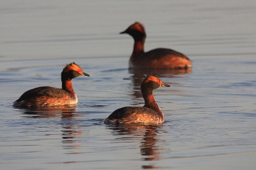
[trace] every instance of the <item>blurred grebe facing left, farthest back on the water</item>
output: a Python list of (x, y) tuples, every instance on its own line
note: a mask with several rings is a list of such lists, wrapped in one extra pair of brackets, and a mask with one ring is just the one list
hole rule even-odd
[(190, 68), (187, 56), (172, 49), (154, 49), (144, 52), (145, 29), (140, 22), (135, 22), (120, 34), (129, 34), (134, 39), (134, 47), (129, 60), (129, 68)]

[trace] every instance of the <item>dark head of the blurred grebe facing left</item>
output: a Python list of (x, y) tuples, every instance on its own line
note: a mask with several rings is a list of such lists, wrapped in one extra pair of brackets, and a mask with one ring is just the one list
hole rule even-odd
[(131, 35), (135, 41), (146, 38), (144, 26), (142, 24), (140, 24), (140, 22), (135, 22), (134, 24), (129, 26), (125, 31), (121, 32), (120, 34), (125, 34), (125, 33)]

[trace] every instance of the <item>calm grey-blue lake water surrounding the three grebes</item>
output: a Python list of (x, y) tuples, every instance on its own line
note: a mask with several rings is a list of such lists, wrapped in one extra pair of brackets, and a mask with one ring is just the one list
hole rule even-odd
[[(255, 169), (256, 1), (1, 1), (1, 169)], [(145, 25), (145, 50), (166, 47), (193, 61), (156, 71), (165, 122), (113, 127), (111, 112), (143, 105), (147, 72), (128, 70)], [(75, 61), (76, 107), (14, 109), (31, 88), (61, 88)]]

